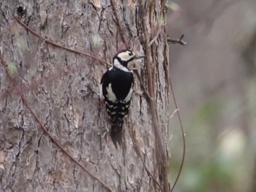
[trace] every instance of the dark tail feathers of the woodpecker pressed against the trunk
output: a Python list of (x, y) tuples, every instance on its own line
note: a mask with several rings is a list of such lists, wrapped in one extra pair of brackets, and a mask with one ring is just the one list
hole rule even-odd
[(121, 146), (122, 144), (122, 126), (123, 126), (124, 121), (123, 120), (115, 120), (115, 122), (111, 122), (111, 132), (110, 132), (110, 136), (111, 139), (113, 141), (113, 144), (115, 145), (116, 149), (117, 149), (117, 143), (118, 145)]

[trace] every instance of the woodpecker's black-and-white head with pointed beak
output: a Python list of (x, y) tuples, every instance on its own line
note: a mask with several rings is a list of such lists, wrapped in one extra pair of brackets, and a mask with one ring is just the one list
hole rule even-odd
[(115, 66), (118, 69), (126, 71), (129, 63), (136, 59), (145, 57), (146, 56), (144, 55), (136, 55), (131, 50), (122, 50), (113, 57), (113, 66)]

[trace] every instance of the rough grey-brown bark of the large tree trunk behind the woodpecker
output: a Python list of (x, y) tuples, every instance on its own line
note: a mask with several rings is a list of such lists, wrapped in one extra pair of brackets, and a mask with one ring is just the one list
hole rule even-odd
[[(0, 191), (107, 191), (42, 131), (19, 90), (50, 134), (113, 191), (159, 191), (146, 169), (167, 191), (161, 147), (167, 138), (168, 50), (159, 24), (165, 1), (4, 0), (0, 12), (1, 56), (14, 77), (12, 82), (0, 65)], [(87, 87), (98, 91), (107, 66), (49, 45), (12, 13), (42, 37), (105, 61), (126, 46), (147, 55), (137, 64), (141, 81), (135, 75), (124, 146), (114, 147), (105, 108)]]

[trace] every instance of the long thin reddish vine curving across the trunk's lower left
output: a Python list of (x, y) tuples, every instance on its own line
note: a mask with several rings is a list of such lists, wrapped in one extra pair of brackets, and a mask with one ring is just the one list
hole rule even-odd
[[(10, 74), (9, 69), (7, 68), (7, 64), (4, 61), (4, 59), (2, 58), (2, 55), (0, 53), (0, 61), (1, 64), (4, 66), (4, 70), (7, 73), (7, 76), (10, 78), (11, 82), (13, 83), (13, 85), (16, 85), (15, 83), (15, 79), (12, 76), (12, 74)], [(34, 117), (34, 119), (37, 121), (37, 123), (39, 123), (40, 128), (42, 128), (42, 131), (45, 132), (45, 134), (48, 135), (48, 137), (50, 137), (50, 139), (53, 140), (53, 142), (63, 151), (63, 153), (65, 153), (73, 162), (75, 162), (75, 164), (77, 164), (78, 166), (80, 166), (81, 169), (83, 169), (84, 172), (86, 172), (87, 174), (89, 174), (89, 176), (91, 178), (93, 178), (94, 180), (97, 180), (104, 188), (106, 188), (108, 191), (113, 191), (108, 185), (106, 185), (105, 183), (102, 182), (102, 180), (99, 180), (98, 177), (96, 177), (94, 174), (91, 174), (91, 172), (89, 172), (88, 169), (86, 169), (86, 167), (84, 167), (82, 164), (80, 164), (80, 162), (78, 162), (70, 153), (67, 152), (67, 150), (64, 149), (64, 147), (60, 144), (60, 142), (55, 139), (54, 137), (52, 137), (50, 135), (50, 133), (48, 132), (48, 130), (45, 128), (45, 126), (43, 126), (42, 122), (39, 120), (39, 118), (37, 118), (37, 115), (35, 114), (35, 112), (31, 109), (29, 102), (26, 100), (25, 96), (23, 96), (23, 93), (20, 89), (19, 85), (16, 85), (16, 89), (18, 91), (18, 94), (20, 95), (21, 99), (23, 100), (24, 104), (26, 105), (26, 107), (28, 108), (29, 112), (31, 112), (31, 115)]]

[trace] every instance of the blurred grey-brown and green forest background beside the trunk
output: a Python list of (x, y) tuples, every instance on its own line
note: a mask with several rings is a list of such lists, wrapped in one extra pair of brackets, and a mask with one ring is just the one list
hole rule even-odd
[[(187, 153), (175, 191), (256, 191), (256, 1), (169, 1), (170, 72)], [(174, 109), (173, 109), (174, 110)], [(170, 125), (170, 178), (181, 164)]]

